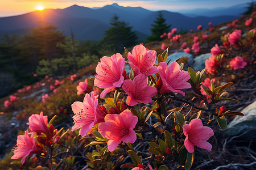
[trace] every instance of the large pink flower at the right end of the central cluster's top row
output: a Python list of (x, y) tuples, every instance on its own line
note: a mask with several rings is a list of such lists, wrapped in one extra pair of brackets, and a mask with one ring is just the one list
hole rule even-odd
[(162, 79), (162, 86), (160, 87), (162, 94), (165, 92), (178, 92), (184, 96), (185, 92), (177, 89), (191, 88), (191, 85), (187, 83), (187, 80), (190, 79), (189, 73), (181, 71), (177, 62), (171, 62), (168, 66), (165, 62), (160, 62), (158, 71)]

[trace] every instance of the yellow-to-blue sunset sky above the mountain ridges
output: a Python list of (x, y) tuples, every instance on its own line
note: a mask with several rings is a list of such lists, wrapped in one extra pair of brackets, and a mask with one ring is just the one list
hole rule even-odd
[(148, 10), (179, 11), (181, 9), (229, 7), (252, 0), (0, 0), (0, 17), (25, 14), (35, 11), (36, 6), (44, 8), (66, 8), (72, 5), (102, 7), (118, 3), (120, 6), (141, 6)]

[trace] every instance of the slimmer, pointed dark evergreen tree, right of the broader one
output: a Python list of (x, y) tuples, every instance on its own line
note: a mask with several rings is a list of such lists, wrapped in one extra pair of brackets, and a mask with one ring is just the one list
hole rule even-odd
[(156, 17), (156, 20), (154, 20), (155, 24), (151, 24), (152, 28), (151, 30), (151, 36), (148, 36), (146, 39), (148, 42), (150, 41), (160, 41), (161, 38), (160, 36), (166, 32), (170, 32), (170, 25), (167, 25), (166, 23), (166, 19), (163, 18), (163, 14), (161, 11), (159, 11), (158, 16)]

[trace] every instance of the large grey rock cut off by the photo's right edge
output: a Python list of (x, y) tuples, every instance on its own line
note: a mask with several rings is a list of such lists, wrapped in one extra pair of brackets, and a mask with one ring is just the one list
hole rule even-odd
[(244, 133), (245, 131), (256, 130), (256, 100), (248, 105), (241, 111), (245, 116), (237, 116), (232, 120), (228, 128), (226, 129), (226, 134), (230, 136), (238, 135)]

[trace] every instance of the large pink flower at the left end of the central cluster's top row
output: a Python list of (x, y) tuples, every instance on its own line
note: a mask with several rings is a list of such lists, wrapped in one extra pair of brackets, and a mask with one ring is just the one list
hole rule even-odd
[(104, 56), (101, 58), (101, 62), (98, 62), (94, 86), (106, 88), (102, 91), (101, 97), (105, 97), (106, 93), (113, 87), (121, 87), (125, 79), (122, 76), (124, 66), (125, 59), (119, 53), (111, 57)]

